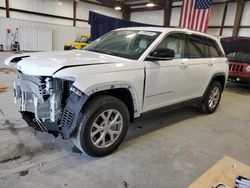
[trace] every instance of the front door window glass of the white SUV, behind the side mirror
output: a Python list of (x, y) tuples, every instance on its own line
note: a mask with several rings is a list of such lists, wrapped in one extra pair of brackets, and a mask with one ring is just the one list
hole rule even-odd
[(168, 35), (161, 43), (156, 47), (156, 49), (165, 48), (171, 49), (175, 52), (175, 58), (186, 57), (186, 41), (184, 39), (184, 34), (175, 33)]

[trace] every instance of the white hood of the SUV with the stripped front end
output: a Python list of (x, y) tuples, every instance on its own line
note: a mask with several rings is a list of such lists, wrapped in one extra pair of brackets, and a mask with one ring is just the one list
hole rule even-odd
[(5, 64), (17, 68), (24, 74), (52, 76), (59, 69), (65, 67), (121, 63), (125, 61), (128, 60), (86, 50), (72, 50), (13, 55), (5, 60)]

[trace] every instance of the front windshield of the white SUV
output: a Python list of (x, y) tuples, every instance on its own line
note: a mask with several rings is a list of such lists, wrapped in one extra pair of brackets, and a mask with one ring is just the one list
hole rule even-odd
[(85, 47), (84, 50), (139, 59), (159, 35), (160, 32), (154, 31), (112, 31)]

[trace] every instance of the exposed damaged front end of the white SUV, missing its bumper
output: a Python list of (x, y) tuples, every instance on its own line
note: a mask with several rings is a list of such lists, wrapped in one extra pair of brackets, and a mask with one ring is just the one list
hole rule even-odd
[(18, 77), (14, 96), (27, 124), (54, 136), (70, 138), (87, 96), (74, 88), (72, 80), (21, 72)]

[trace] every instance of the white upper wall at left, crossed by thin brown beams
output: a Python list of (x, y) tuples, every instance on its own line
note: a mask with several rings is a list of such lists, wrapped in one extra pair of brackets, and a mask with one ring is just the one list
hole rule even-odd
[[(0, 1), (3, 4), (3, 0)], [(5, 6), (1, 5), (0, 6)], [(58, 15), (73, 18), (73, 1), (72, 0), (11, 0), (10, 7), (15, 9), (27, 10), (38, 13)], [(122, 18), (121, 11), (113, 8), (94, 5), (90, 3), (77, 2), (77, 18), (88, 20), (89, 11), (94, 11), (115, 18)], [(5, 11), (0, 10), (0, 17), (5, 17)], [(58, 19), (46, 16), (38, 16), (20, 12), (10, 12), (10, 17), (20, 20), (37, 21), (51, 24), (60, 24), (73, 26), (73, 20)], [(90, 27), (87, 22), (77, 21), (77, 27)]]

